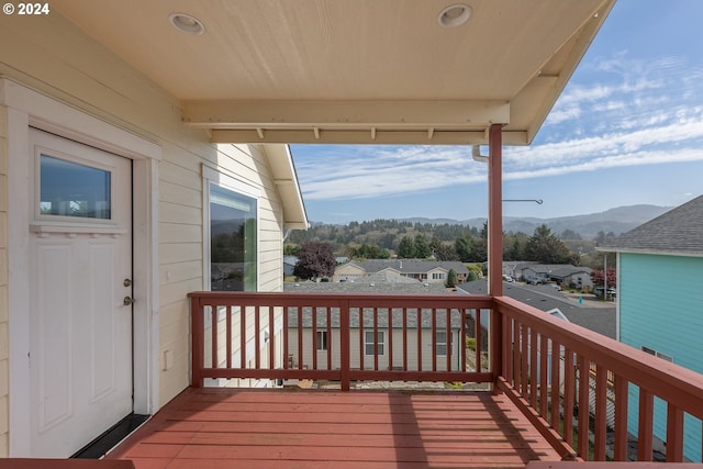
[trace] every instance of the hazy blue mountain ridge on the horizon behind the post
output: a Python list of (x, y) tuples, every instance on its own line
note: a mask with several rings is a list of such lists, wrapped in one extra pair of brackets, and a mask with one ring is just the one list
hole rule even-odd
[[(615, 235), (628, 232), (649, 220), (652, 220), (665, 212), (671, 210), (671, 206), (659, 205), (627, 205), (610, 209), (604, 212), (591, 213), (585, 215), (572, 215), (560, 216), (554, 219), (537, 219), (537, 217), (516, 217), (505, 216), (503, 219), (503, 230), (513, 233), (525, 233), (532, 235), (535, 228), (539, 225), (547, 225), (553, 233), (560, 234), (565, 230), (571, 230), (579, 233), (583, 239), (594, 238), (599, 232), (610, 233)], [(470, 219), (464, 221), (449, 220), (449, 219), (403, 219), (403, 221), (411, 223), (429, 223), (436, 225), (444, 224), (460, 224), (475, 226), (482, 228), (486, 219)]]

